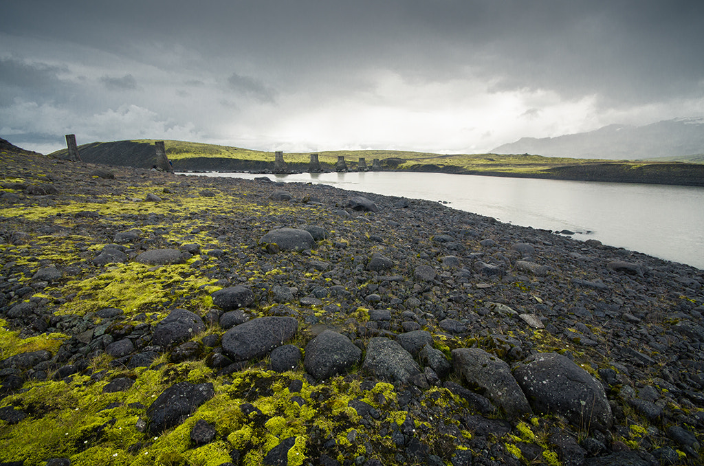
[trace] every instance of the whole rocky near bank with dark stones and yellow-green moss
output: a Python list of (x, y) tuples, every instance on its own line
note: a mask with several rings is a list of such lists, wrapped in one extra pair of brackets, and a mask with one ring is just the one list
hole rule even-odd
[(12, 147), (0, 188), (0, 465), (702, 461), (702, 270)]

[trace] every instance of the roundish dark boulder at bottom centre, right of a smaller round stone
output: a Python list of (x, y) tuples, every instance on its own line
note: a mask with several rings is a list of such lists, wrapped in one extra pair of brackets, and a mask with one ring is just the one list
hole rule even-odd
[(308, 342), (303, 367), (315, 379), (322, 380), (345, 372), (358, 364), (362, 350), (346, 336), (325, 330)]

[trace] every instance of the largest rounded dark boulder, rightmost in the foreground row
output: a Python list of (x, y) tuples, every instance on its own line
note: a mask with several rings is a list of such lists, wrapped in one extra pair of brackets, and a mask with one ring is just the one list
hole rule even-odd
[(611, 407), (603, 386), (570, 358), (539, 353), (515, 366), (513, 375), (536, 413), (556, 413), (579, 429), (608, 430)]

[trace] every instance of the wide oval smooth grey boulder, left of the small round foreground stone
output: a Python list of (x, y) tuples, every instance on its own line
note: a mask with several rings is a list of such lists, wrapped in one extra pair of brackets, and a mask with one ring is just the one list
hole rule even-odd
[(263, 358), (298, 332), (294, 317), (259, 317), (232, 327), (222, 335), (222, 350), (234, 361)]

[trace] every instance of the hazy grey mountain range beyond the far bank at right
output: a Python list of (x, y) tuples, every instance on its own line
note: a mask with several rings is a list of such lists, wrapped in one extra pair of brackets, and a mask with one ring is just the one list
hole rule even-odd
[(704, 118), (675, 118), (652, 125), (608, 125), (598, 130), (558, 137), (523, 137), (491, 153), (531, 153), (546, 157), (702, 163)]

